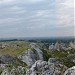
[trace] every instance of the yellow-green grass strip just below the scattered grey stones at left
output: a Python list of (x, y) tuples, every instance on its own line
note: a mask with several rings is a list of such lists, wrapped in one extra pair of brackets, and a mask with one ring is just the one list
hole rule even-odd
[(0, 54), (1, 55), (9, 54), (9, 55), (15, 57), (27, 49), (28, 49), (28, 47), (4, 48), (4, 49), (0, 49)]

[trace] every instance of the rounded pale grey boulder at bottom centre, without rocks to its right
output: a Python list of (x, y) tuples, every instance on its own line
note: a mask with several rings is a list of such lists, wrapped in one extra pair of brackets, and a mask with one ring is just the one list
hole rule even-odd
[(48, 71), (48, 63), (46, 61), (38, 60), (32, 65), (30, 69), (27, 68), (26, 75), (44, 75), (43, 72), (46, 72), (45, 69)]

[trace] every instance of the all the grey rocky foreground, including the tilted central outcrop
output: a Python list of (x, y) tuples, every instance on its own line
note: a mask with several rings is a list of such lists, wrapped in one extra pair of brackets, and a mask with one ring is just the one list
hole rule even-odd
[[(49, 57), (46, 61), (45, 53), (36, 43), (30, 46), (30, 49), (17, 56), (22, 65), (16, 64), (16, 59), (9, 55), (0, 56), (0, 75), (75, 75), (75, 66), (68, 67), (63, 60), (55, 57)], [(72, 58), (71, 62), (75, 63), (74, 56), (71, 54), (64, 59)]]

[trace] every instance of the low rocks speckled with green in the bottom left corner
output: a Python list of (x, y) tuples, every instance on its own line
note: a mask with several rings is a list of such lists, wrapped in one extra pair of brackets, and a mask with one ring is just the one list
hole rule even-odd
[(5, 68), (2, 69), (2, 73), (0, 75), (25, 75), (25, 67), (22, 66), (15, 67), (12, 65), (12, 68), (10, 68), (7, 66), (5, 66)]

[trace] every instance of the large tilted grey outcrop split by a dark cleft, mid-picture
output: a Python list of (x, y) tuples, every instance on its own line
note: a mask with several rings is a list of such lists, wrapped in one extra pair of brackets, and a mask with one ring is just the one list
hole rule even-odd
[(31, 49), (23, 52), (18, 56), (21, 61), (25, 62), (28, 66), (32, 66), (37, 60), (44, 60), (43, 52), (36, 44), (31, 44)]

